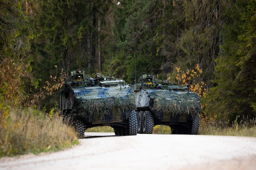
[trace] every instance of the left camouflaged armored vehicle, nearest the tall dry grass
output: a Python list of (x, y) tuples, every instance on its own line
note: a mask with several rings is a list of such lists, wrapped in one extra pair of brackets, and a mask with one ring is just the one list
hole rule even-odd
[(123, 79), (73, 71), (60, 92), (63, 120), (75, 127), (79, 138), (95, 126), (111, 126), (116, 135), (137, 135), (135, 93)]

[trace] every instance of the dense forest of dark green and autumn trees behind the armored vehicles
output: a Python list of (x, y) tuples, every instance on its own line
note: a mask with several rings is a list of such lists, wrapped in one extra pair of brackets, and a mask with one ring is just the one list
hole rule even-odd
[(198, 65), (203, 116), (255, 119), (255, 0), (0, 0), (0, 37), (0, 109), (58, 105), (63, 63), (131, 84)]

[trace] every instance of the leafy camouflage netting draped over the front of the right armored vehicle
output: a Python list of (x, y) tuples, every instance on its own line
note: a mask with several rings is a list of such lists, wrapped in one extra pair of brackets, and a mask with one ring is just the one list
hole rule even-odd
[(149, 96), (154, 99), (154, 109), (164, 114), (172, 114), (172, 116), (183, 114), (193, 117), (201, 113), (200, 98), (195, 93), (154, 92)]

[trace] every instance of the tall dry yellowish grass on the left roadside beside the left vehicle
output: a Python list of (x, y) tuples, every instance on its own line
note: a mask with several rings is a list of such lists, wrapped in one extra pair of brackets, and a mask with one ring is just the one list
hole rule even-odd
[(0, 157), (62, 150), (78, 139), (57, 115), (49, 117), (34, 109), (0, 111)]

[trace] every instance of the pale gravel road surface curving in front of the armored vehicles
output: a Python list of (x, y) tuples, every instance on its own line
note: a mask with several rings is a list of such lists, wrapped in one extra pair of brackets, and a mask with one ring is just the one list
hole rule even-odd
[(256, 170), (256, 138), (85, 133), (71, 149), (0, 159), (0, 170)]

